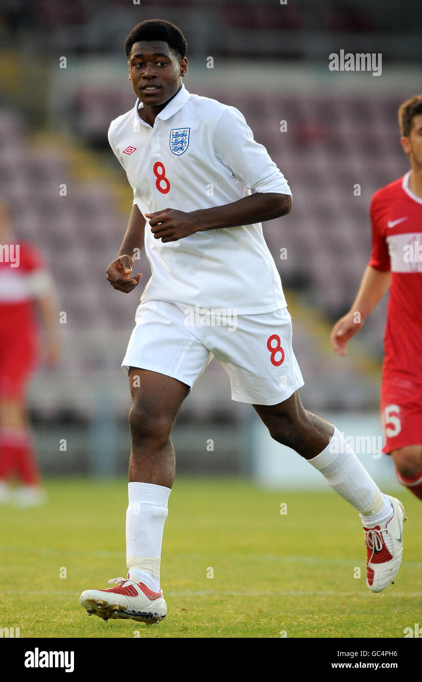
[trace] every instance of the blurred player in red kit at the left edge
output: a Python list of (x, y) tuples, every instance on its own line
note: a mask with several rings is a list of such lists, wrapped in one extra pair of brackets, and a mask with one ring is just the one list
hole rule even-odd
[[(0, 200), (0, 504), (21, 507), (46, 496), (33, 453), (26, 409), (27, 384), (39, 361), (34, 303), (46, 328), (46, 360), (57, 360), (52, 284), (46, 266), (31, 243), (12, 233), (10, 211)], [(18, 488), (10, 482), (16, 477)]]

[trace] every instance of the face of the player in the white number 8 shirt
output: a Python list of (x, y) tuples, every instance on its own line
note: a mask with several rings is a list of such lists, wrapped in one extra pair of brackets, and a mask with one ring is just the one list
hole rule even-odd
[(129, 80), (144, 106), (160, 106), (177, 93), (187, 72), (187, 59), (180, 59), (163, 40), (140, 40), (129, 55)]

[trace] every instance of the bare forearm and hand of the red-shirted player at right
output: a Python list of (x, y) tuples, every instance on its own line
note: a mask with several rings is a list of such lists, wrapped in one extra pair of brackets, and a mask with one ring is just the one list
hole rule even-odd
[(378, 305), (390, 286), (391, 271), (376, 270), (368, 265), (355, 301), (349, 312), (338, 320), (331, 331), (331, 345), (338, 355), (346, 355), (346, 344), (361, 329), (367, 316)]

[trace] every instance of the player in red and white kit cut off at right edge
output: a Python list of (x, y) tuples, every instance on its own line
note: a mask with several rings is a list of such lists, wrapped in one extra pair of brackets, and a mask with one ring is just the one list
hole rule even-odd
[(410, 170), (372, 198), (370, 263), (331, 343), (345, 355), (346, 343), (390, 286), (380, 406), (384, 451), (398, 481), (422, 499), (422, 95), (400, 106), (399, 125)]

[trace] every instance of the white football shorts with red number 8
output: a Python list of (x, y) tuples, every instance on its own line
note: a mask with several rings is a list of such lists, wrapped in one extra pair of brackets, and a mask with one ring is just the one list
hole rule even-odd
[(126, 374), (137, 367), (192, 388), (214, 356), (230, 376), (232, 400), (275, 405), (303, 386), (287, 308), (237, 316), (230, 308), (145, 301), (135, 322), (122, 363)]

